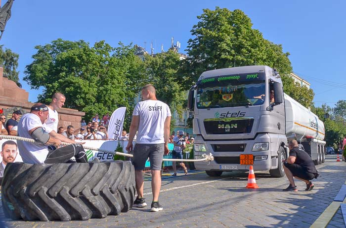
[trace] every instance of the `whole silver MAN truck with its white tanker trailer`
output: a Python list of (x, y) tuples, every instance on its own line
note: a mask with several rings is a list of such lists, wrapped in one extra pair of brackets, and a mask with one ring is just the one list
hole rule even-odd
[[(273, 96), (270, 98), (270, 92)], [(297, 139), (315, 164), (325, 156), (324, 124), (283, 93), (280, 75), (269, 66), (216, 69), (201, 74), (191, 87), (195, 159), (208, 152), (214, 161), (195, 163), (210, 176), (223, 171), (269, 170), (285, 175), (288, 141)]]

